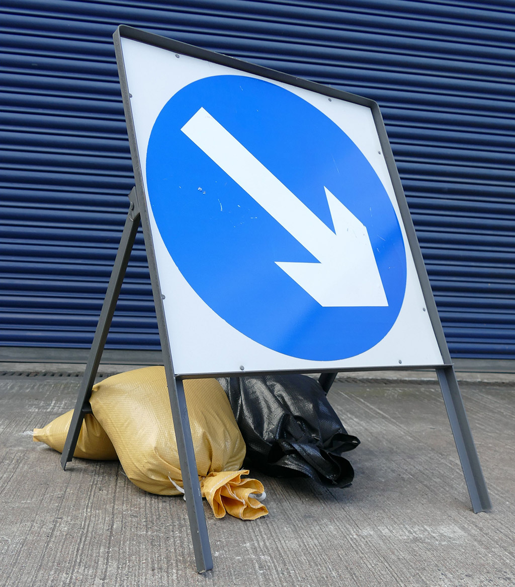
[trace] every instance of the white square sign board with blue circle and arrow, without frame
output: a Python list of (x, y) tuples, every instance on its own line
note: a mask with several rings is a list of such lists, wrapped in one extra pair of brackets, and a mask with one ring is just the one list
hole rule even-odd
[(370, 107), (121, 50), (177, 375), (443, 365)]

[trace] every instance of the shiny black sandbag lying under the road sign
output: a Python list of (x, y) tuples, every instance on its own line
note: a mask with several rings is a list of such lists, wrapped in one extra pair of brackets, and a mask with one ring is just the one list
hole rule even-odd
[(331, 487), (354, 478), (341, 456), (347, 434), (319, 382), (306, 375), (220, 377), (247, 446), (246, 462), (272, 477), (311, 477)]

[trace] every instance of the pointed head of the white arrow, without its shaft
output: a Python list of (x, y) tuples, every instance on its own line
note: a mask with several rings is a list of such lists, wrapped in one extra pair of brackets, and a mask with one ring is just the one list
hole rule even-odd
[[(326, 187), (334, 231), (319, 263), (277, 262), (321, 306), (388, 306), (367, 228)], [(335, 234), (336, 233), (336, 234)]]

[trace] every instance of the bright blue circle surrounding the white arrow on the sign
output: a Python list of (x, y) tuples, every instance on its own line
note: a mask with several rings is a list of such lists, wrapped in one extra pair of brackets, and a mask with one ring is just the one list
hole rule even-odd
[[(344, 204), (367, 230), (387, 305), (321, 305), (277, 265), (317, 259), (181, 130), (199, 109), (330, 230), (324, 187)], [(157, 117), (146, 167), (148, 197), (172, 259), (243, 335), (284, 355), (339, 360), (372, 348), (394, 325), (406, 288), (397, 215), (358, 147), (306, 100), (253, 77), (192, 82)]]

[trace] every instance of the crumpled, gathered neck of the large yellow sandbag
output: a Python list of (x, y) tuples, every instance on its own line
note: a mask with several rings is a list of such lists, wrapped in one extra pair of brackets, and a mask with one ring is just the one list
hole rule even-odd
[(257, 479), (242, 479), (249, 471), (221, 471), (209, 473), (201, 480), (202, 497), (205, 497), (215, 518), (226, 512), (240, 519), (256, 519), (268, 513), (261, 503), (266, 497), (263, 484)]

